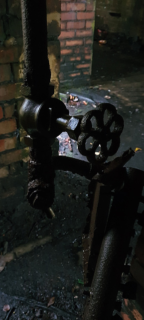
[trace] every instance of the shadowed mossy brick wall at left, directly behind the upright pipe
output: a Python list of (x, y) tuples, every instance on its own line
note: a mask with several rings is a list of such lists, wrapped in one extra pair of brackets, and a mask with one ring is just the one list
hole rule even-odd
[[(60, 0), (47, 0), (48, 56), (55, 96), (59, 90)], [(37, 39), (38, 40), (38, 39)], [(23, 100), (23, 43), (20, 0), (0, 0), (0, 210), (25, 195), (29, 149), (18, 120)]]

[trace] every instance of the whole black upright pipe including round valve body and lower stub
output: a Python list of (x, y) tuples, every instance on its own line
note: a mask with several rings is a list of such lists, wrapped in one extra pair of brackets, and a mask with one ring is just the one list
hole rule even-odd
[[(46, 0), (34, 0), (34, 2), (21, 0), (21, 15), (24, 48), (22, 93), (26, 98), (28, 97), (28, 107), (30, 105), (28, 112), (26, 112), (27, 104), (24, 110), (20, 108), (19, 111), (20, 121), (24, 123), (24, 128), (29, 134), (28, 145), (31, 145), (27, 199), (32, 207), (47, 209), (54, 200), (55, 172), (51, 163), (53, 139), (45, 137), (45, 131), (50, 125), (47, 123), (50, 122), (51, 117), (48, 104), (43, 105), (43, 101), (50, 100), (54, 93), (53, 86), (49, 86), (51, 72), (47, 54)], [(27, 99), (24, 103), (26, 101)], [(42, 112), (40, 123), (37, 120), (39, 112)], [(45, 117), (46, 128), (43, 125)]]

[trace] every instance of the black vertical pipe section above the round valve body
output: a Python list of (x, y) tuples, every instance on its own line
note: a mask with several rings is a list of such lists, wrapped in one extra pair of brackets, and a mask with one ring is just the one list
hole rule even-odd
[(21, 0), (24, 85), (32, 98), (44, 100), (50, 82), (47, 57), (46, 0)]

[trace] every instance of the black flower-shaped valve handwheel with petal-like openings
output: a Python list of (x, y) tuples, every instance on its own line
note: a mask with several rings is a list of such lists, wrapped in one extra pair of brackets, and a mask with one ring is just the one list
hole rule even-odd
[[(104, 121), (106, 111), (107, 120)], [(95, 128), (92, 126), (92, 118), (96, 120)], [(89, 162), (105, 162), (108, 156), (117, 152), (123, 128), (123, 117), (117, 113), (115, 106), (111, 103), (99, 104), (97, 109), (88, 111), (82, 118), (81, 134), (78, 137), (79, 152), (82, 155), (86, 155)], [(92, 137), (93, 142), (86, 149), (86, 141), (90, 137)], [(111, 141), (110, 147), (108, 147), (109, 141)], [(101, 146), (101, 151), (96, 158), (95, 152), (99, 145)]]

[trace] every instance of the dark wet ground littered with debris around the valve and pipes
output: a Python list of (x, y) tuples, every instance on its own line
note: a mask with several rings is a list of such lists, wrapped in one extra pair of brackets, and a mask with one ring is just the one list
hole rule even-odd
[[(125, 121), (117, 155), (138, 148), (129, 166), (144, 169), (144, 64), (139, 52), (96, 44), (91, 86), (61, 92), (74, 115), (101, 102), (113, 103)], [(70, 93), (79, 97), (77, 103), (67, 103)], [(82, 158), (66, 133), (59, 136), (59, 144), (63, 156)], [(0, 251), (12, 257), (0, 273), (0, 320), (81, 319), (85, 302), (81, 238), (89, 213), (88, 184), (84, 177), (57, 171), (53, 219), (32, 209), (26, 199), (12, 212), (1, 212)], [(5, 304), (10, 306), (7, 311)]]

